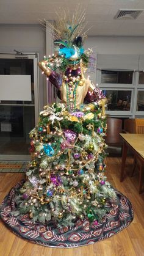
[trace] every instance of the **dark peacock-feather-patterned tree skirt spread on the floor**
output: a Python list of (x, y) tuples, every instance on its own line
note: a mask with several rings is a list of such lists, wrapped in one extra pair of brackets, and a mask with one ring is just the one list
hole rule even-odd
[(33, 223), (28, 214), (10, 216), (10, 211), (15, 210), (15, 191), (23, 186), (23, 182), (17, 183), (5, 197), (0, 206), (0, 217), (13, 233), (33, 243), (49, 247), (86, 246), (117, 234), (132, 222), (134, 215), (131, 202), (117, 190), (117, 198), (107, 204), (112, 210), (97, 225), (91, 225), (86, 220), (76, 221), (72, 228), (57, 229), (52, 221), (45, 225), (40, 222)]

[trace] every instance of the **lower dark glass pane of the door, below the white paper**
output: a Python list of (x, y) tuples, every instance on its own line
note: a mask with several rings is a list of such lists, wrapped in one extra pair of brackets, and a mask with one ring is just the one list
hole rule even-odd
[(29, 131), (34, 126), (34, 106), (0, 106), (0, 154), (29, 155)]

